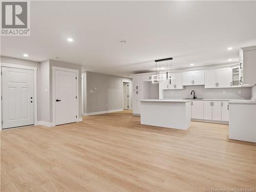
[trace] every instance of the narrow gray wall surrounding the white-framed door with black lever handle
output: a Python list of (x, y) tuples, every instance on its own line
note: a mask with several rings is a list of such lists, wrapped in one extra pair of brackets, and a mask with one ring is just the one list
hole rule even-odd
[[(79, 106), (79, 114), (78, 117), (82, 117), (82, 66), (81, 65), (75, 65), (73, 63), (68, 62), (61, 62), (56, 60), (50, 60), (50, 98), (52, 98), (52, 66), (55, 67), (62, 67), (62, 68), (69, 68), (69, 69), (75, 69), (79, 71), (78, 74), (78, 106)], [(50, 122), (52, 122), (52, 99), (50, 99)]]

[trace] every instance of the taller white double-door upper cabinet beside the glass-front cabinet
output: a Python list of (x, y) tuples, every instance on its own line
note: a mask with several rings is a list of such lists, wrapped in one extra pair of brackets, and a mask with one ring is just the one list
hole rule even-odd
[(231, 68), (205, 70), (205, 88), (230, 88)]

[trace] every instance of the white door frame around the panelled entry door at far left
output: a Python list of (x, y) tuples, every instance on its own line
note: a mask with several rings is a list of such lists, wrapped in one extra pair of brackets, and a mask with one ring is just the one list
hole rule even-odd
[[(1, 62), (0, 65), (0, 71), (2, 74), (2, 67), (8, 67), (8, 68), (17, 68), (17, 69), (27, 69), (27, 70), (33, 70), (34, 71), (34, 125), (37, 125), (37, 67), (32, 67), (32, 66), (23, 66), (23, 65), (16, 65), (16, 64), (12, 64), (12, 63), (5, 63), (5, 62)], [(0, 94), (2, 97), (2, 75), (1, 75), (1, 79), (0, 79), (0, 84), (1, 84), (1, 89), (0, 89)], [(1, 99), (1, 104), (0, 104), (0, 108), (1, 108), (1, 114), (0, 114), (0, 130), (2, 130), (2, 99)]]

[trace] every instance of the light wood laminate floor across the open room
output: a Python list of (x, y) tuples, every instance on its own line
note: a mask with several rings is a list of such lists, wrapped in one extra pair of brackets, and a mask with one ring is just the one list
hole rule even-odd
[(256, 144), (229, 140), (224, 124), (165, 129), (124, 111), (1, 132), (1, 191), (236, 187), (256, 187)]

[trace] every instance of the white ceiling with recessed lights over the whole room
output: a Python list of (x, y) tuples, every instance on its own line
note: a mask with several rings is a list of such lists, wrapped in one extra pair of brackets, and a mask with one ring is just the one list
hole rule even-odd
[(239, 48), (253, 45), (256, 1), (32, 1), (31, 35), (2, 37), (1, 55), (125, 76), (166, 57), (174, 68), (238, 61)]

